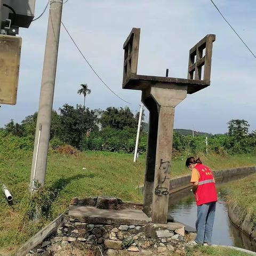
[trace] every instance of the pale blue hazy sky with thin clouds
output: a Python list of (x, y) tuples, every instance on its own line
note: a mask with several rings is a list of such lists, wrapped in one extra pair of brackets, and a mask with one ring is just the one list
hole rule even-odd
[[(256, 1), (215, 0), (246, 44), (256, 53)], [(35, 17), (47, 0), (37, 0)], [(0, 127), (21, 122), (38, 110), (49, 11), (21, 28), (20, 76), (17, 105), (1, 105)], [(256, 59), (245, 48), (210, 0), (69, 0), (62, 21), (103, 81), (103, 85), (61, 28), (53, 108), (83, 104), (77, 94), (86, 83), (92, 93), (85, 105), (91, 109), (129, 107), (138, 111), (141, 92), (122, 89), (123, 43), (133, 27), (141, 28), (139, 75), (187, 78), (188, 53), (201, 38), (215, 34), (211, 86), (188, 95), (175, 108), (174, 127), (209, 133), (227, 132), (230, 119), (245, 119), (256, 130)], [(146, 117), (147, 121), (148, 117)]]

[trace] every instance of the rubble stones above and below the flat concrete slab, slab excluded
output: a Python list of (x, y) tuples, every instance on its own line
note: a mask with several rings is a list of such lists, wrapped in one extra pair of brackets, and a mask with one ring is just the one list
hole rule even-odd
[[(119, 200), (110, 197), (86, 198), (86, 202), (101, 209), (116, 209)], [(79, 200), (74, 200), (78, 204)], [(54, 234), (35, 247), (26, 256), (161, 256), (185, 255), (193, 233), (186, 234), (179, 223), (129, 225), (129, 221), (100, 225), (99, 221), (85, 223), (68, 218)], [(96, 223), (97, 222), (97, 223)], [(138, 223), (139, 224), (139, 223)]]

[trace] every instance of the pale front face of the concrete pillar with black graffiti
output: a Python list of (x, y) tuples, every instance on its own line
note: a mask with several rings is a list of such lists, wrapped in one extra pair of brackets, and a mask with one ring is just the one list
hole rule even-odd
[(151, 87), (158, 110), (158, 130), (152, 201), (154, 223), (166, 223), (169, 203), (174, 108), (187, 96), (187, 85), (156, 84)]

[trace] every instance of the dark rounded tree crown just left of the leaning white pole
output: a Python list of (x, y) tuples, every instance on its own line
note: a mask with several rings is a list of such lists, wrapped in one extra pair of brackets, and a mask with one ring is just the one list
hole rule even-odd
[(130, 108), (115, 108), (108, 107), (102, 112), (100, 123), (102, 127), (111, 127), (118, 130), (123, 130), (124, 127), (135, 128), (137, 121)]

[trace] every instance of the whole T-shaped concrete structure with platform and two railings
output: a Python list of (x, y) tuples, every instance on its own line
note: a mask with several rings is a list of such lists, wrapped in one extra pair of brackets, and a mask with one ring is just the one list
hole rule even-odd
[(123, 89), (141, 90), (149, 110), (149, 134), (143, 211), (154, 223), (166, 223), (170, 194), (175, 107), (210, 85), (215, 35), (206, 35), (189, 51), (188, 78), (137, 75), (140, 28), (133, 28), (124, 49)]

